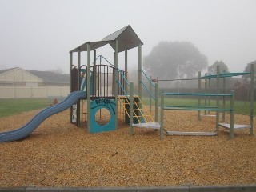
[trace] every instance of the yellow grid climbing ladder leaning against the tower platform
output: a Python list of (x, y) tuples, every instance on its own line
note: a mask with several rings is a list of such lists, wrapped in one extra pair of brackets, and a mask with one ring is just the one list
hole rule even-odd
[[(126, 95), (118, 95), (119, 103), (121, 104), (123, 110), (130, 118), (130, 98)], [(154, 122), (150, 112), (146, 109), (143, 105), (141, 98), (134, 95), (134, 111), (133, 111), (134, 118), (137, 119), (138, 123), (144, 122)]]

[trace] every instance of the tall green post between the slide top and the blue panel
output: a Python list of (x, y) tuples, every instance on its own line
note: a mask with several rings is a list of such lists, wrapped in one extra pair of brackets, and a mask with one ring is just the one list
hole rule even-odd
[(90, 42), (87, 43), (87, 70), (86, 70), (86, 96), (87, 96), (87, 131), (90, 133)]

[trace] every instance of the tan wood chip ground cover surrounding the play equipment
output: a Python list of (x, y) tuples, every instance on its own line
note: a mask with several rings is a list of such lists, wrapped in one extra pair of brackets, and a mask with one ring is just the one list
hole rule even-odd
[[(39, 110), (0, 118), (0, 131), (29, 122)], [(88, 134), (70, 124), (66, 110), (46, 119), (29, 137), (0, 143), (0, 186), (176, 186), (256, 182), (256, 138), (235, 130), (218, 136), (165, 136), (142, 128)], [(215, 118), (197, 112), (166, 111), (165, 130), (213, 131)], [(229, 115), (226, 115), (226, 122)], [(249, 125), (250, 118), (235, 115)], [(255, 122), (254, 122), (255, 124)], [(256, 125), (256, 124), (255, 124)]]

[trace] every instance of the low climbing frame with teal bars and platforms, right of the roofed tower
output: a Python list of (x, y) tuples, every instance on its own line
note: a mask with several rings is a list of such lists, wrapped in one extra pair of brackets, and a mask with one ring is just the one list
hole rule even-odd
[[(250, 74), (250, 125), (238, 125), (234, 124), (234, 91), (231, 91), (230, 94), (225, 94), (225, 78), (227, 77), (234, 77), (239, 75)], [(217, 93), (211, 94), (210, 93), (210, 79), (216, 78), (217, 80)], [(223, 93), (220, 93), (220, 78), (223, 78)], [(202, 93), (201, 90), (201, 82), (202, 79), (208, 81), (208, 90), (207, 86), (205, 86), (206, 90), (205, 93)], [(161, 80), (154, 80), (155, 82)], [(166, 81), (166, 80), (164, 80)], [(205, 84), (206, 85), (206, 84)], [(165, 106), (164, 105), (164, 98), (165, 95), (178, 95), (178, 96), (196, 96), (198, 97), (198, 106)], [(202, 105), (201, 98), (205, 98), (205, 105)], [(216, 98), (216, 106), (210, 106), (210, 98)], [(222, 97), (222, 106), (220, 106), (220, 98)], [(208, 106), (206, 105), (206, 98), (208, 98)], [(226, 98), (230, 98), (230, 107), (226, 108)], [(151, 102), (150, 102), (151, 103)], [(254, 65), (250, 66), (250, 72), (243, 72), (243, 73), (220, 73), (219, 66), (217, 66), (217, 74), (208, 74), (204, 77), (201, 77), (201, 72), (198, 72), (198, 94), (181, 94), (181, 93), (165, 93), (163, 90), (161, 91), (161, 120), (160, 125), (163, 126), (163, 117), (164, 117), (164, 110), (196, 110), (198, 111), (198, 120), (202, 119), (201, 111), (216, 111), (216, 115), (210, 115), (216, 117), (216, 128), (215, 132), (179, 132), (179, 131), (166, 131), (166, 135), (207, 135), (207, 136), (214, 136), (217, 135), (219, 131), (219, 126), (222, 126), (228, 130), (230, 130), (230, 138), (234, 138), (234, 130), (237, 129), (250, 129), (250, 135), (254, 134)], [(219, 120), (220, 112), (222, 112), (222, 122)], [(230, 112), (230, 123), (225, 123), (225, 112)]]

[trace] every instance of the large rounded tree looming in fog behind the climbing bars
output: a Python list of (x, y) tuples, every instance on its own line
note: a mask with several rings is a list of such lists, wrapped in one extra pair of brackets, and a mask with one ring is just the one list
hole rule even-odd
[(192, 78), (207, 67), (207, 58), (191, 42), (159, 42), (144, 57), (144, 69), (159, 78)]

